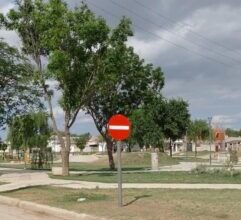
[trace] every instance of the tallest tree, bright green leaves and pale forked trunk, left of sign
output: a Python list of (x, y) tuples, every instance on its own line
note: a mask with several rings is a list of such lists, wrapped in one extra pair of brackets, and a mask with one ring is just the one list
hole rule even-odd
[[(0, 17), (5, 28), (18, 33), (23, 51), (36, 64), (34, 78), (44, 93), (61, 144), (62, 174), (68, 175), (70, 128), (95, 92), (93, 86), (109, 28), (86, 5), (71, 10), (61, 0), (18, 0), (16, 9)], [(49, 59), (48, 69), (44, 68), (44, 59)], [(49, 79), (57, 82), (62, 94), (59, 104), (64, 111), (65, 138), (56, 123)]]

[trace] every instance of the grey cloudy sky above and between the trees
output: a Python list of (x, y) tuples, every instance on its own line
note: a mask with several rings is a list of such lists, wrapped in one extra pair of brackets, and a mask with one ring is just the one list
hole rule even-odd
[[(0, 11), (14, 7), (0, 0)], [(70, 7), (81, 0), (69, 0)], [(160, 66), (166, 78), (163, 94), (189, 102), (192, 118), (213, 117), (220, 127), (241, 128), (241, 1), (240, 0), (87, 0), (112, 27), (125, 15), (135, 36), (128, 44), (147, 62)], [(13, 32), (0, 37), (19, 45)], [(55, 107), (61, 124), (62, 112)], [(81, 113), (76, 133), (97, 133)]]

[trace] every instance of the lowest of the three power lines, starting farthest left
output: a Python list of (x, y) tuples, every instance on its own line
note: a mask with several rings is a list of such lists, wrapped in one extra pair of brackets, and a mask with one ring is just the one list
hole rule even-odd
[[(114, 18), (116, 18), (117, 20), (120, 20), (120, 18), (119, 18), (118, 16), (116, 16), (115, 14), (109, 12), (108, 10), (101, 8), (100, 6), (94, 4), (94, 3), (93, 3), (92, 1), (90, 1), (90, 0), (89, 0), (88, 2), (89, 2), (91, 5), (93, 5), (95, 8), (97, 8), (97, 9), (99, 9), (99, 10), (101, 10), (101, 11), (107, 13), (107, 14), (109, 14), (111, 17), (114, 17)], [(205, 56), (205, 55), (203, 55), (203, 54), (201, 54), (201, 53), (198, 53), (198, 52), (196, 52), (196, 51), (193, 51), (193, 50), (191, 50), (191, 49), (189, 49), (189, 48), (187, 48), (187, 47), (184, 47), (184, 46), (182, 46), (182, 45), (176, 44), (176, 43), (174, 43), (174, 42), (172, 42), (172, 41), (170, 41), (170, 40), (168, 40), (168, 39), (165, 39), (165, 38), (163, 38), (163, 37), (161, 37), (161, 36), (159, 36), (159, 35), (157, 35), (157, 34), (155, 34), (155, 33), (153, 33), (153, 32), (150, 32), (150, 31), (145, 30), (144, 28), (142, 28), (142, 27), (139, 26), (139, 25), (133, 24), (133, 26), (136, 27), (136, 28), (138, 28), (138, 29), (140, 29), (140, 30), (142, 30), (142, 31), (144, 31), (144, 32), (146, 32), (146, 33), (148, 33), (148, 34), (150, 34), (150, 35), (152, 35), (152, 36), (154, 36), (154, 37), (156, 37), (156, 38), (159, 38), (159, 39), (161, 39), (161, 40), (163, 40), (163, 41), (166, 41), (167, 43), (169, 43), (169, 44), (171, 44), (171, 45), (173, 45), (173, 46), (175, 46), (175, 47), (178, 47), (178, 48), (181, 48), (181, 49), (183, 49), (183, 50), (185, 50), (185, 51), (187, 51), (187, 52), (196, 54), (196, 55), (202, 57), (203, 59), (208, 60), (209, 62), (214, 61), (214, 62), (216, 62), (216, 63), (222, 64), (222, 65), (227, 66), (227, 67), (229, 67), (229, 68), (235, 69), (233, 65), (224, 63), (224, 62), (219, 61), (219, 60), (217, 60), (217, 59), (215, 59), (215, 58), (213, 58), (213, 57)]]

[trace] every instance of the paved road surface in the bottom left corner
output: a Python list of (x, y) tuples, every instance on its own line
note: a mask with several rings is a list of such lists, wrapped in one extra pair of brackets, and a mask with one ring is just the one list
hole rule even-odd
[(9, 207), (0, 204), (1, 220), (64, 220), (57, 219), (41, 213), (25, 211), (17, 207)]

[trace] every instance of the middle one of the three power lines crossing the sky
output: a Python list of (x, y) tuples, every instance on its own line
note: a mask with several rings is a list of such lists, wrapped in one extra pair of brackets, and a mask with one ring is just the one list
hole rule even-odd
[(209, 51), (212, 51), (214, 54), (217, 54), (217, 55), (222, 56), (222, 57), (224, 57), (224, 58), (228, 58), (228, 59), (230, 59), (230, 60), (233, 60), (233, 62), (234, 62), (235, 64), (240, 65), (240, 61), (239, 61), (239, 60), (236, 60), (236, 59), (234, 59), (234, 58), (232, 58), (232, 57), (229, 57), (229, 56), (227, 56), (227, 55), (225, 55), (225, 54), (223, 54), (223, 53), (221, 53), (221, 52), (219, 52), (219, 51), (215, 51), (215, 50), (213, 50), (213, 49), (210, 48), (210, 47), (207, 47), (207, 46), (204, 46), (204, 45), (200, 45), (200, 44), (194, 43), (194, 42), (192, 42), (192, 41), (190, 41), (190, 40), (187, 40), (185, 37), (183, 37), (183, 36), (181, 36), (181, 35), (179, 35), (179, 34), (177, 34), (177, 33), (175, 33), (175, 32), (172, 32), (172, 31), (168, 30), (168, 29), (165, 28), (163, 25), (157, 24), (157, 23), (153, 22), (152, 20), (150, 20), (150, 19), (148, 19), (148, 18), (145, 18), (145, 17), (139, 15), (139, 14), (136, 13), (135, 11), (133, 11), (133, 10), (131, 10), (131, 9), (129, 9), (129, 8), (127, 8), (127, 7), (125, 7), (125, 6), (121, 5), (121, 4), (113, 1), (113, 0), (110, 0), (110, 1), (112, 2), (112, 4), (116, 5), (117, 7), (122, 8), (122, 9), (124, 9), (124, 10), (126, 10), (126, 11), (129, 11), (131, 14), (134, 14), (136, 17), (141, 18), (141, 19), (144, 20), (145, 22), (148, 22), (148, 23), (150, 23), (150, 24), (152, 24), (152, 25), (155, 25), (155, 26), (157, 26), (157, 27), (159, 27), (159, 28), (162, 28), (162, 29), (164, 29), (166, 32), (171, 33), (171, 34), (173, 34), (173, 35), (175, 35), (175, 36), (177, 36), (177, 37), (179, 37), (179, 38), (187, 41), (188, 43), (190, 43), (190, 44), (192, 44), (192, 45), (195, 45), (195, 46), (197, 46), (197, 47), (199, 47), (199, 48), (201, 48), (201, 49), (205, 48), (205, 49), (207, 49), (207, 50), (209, 50)]

